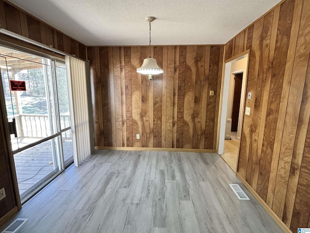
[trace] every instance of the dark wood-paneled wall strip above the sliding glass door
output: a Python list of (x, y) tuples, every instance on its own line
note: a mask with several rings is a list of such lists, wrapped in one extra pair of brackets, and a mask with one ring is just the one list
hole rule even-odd
[(6, 0), (0, 0), (0, 27), (47, 46), (86, 59), (86, 46)]

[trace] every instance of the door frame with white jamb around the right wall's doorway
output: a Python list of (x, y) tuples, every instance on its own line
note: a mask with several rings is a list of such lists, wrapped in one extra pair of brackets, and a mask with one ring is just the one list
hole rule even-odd
[[(224, 61), (223, 64), (223, 72), (222, 72), (222, 83), (221, 83), (221, 93), (220, 93), (220, 103), (219, 103), (219, 115), (218, 115), (218, 127), (217, 127), (217, 153), (218, 154), (223, 154), (224, 152), (224, 141), (225, 141), (225, 128), (226, 128), (226, 116), (227, 116), (227, 108), (228, 108), (228, 100), (229, 100), (229, 90), (230, 90), (230, 82), (231, 82), (231, 75), (232, 75), (232, 64), (238, 60), (241, 60), (243, 58), (248, 58), (248, 63), (249, 63), (249, 53), (250, 50), (246, 50), (236, 56), (233, 56), (230, 59), (227, 59)], [(244, 104), (245, 104), (245, 94), (246, 94), (246, 88), (247, 88), (247, 81), (248, 81), (248, 63), (247, 63), (247, 67), (246, 67), (246, 75), (244, 75), (243, 77), (243, 81), (242, 81), (242, 89), (244, 89), (244, 91), (242, 90), (241, 92), (241, 100), (240, 101), (240, 110), (241, 110), (241, 106), (242, 106), (242, 111), (239, 111), (239, 116), (242, 115), (241, 117), (239, 117), (239, 123), (241, 124), (241, 132), (242, 132), (242, 128), (243, 128), (243, 116), (244, 116)], [(238, 71), (239, 72), (239, 71)], [(240, 72), (242, 72), (240, 70)], [(239, 72), (239, 73), (240, 73)], [(234, 72), (235, 73), (235, 72)], [(240, 119), (241, 118), (241, 119)], [(238, 127), (239, 128), (239, 127)], [(241, 137), (240, 137), (241, 138)], [(239, 150), (240, 150), (240, 145), (238, 148), (238, 154), (237, 154), (237, 164), (238, 164), (238, 160), (239, 160)], [(237, 172), (238, 166), (236, 167), (236, 172)]]

